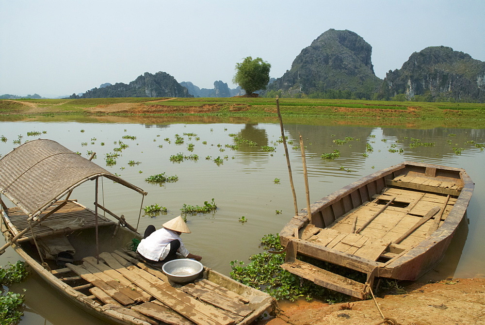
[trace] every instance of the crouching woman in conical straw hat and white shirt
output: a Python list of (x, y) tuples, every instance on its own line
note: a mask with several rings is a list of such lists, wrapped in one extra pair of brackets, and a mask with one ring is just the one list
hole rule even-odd
[(162, 226), (163, 228), (158, 230), (152, 225), (146, 227), (145, 235), (138, 244), (136, 251), (147, 263), (175, 260), (177, 252), (187, 259), (202, 260), (202, 257), (189, 253), (180, 239), (182, 232), (191, 232), (180, 215)]

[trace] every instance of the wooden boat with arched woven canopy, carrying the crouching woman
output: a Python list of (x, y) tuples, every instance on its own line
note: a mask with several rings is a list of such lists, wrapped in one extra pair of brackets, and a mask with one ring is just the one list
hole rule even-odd
[[(4, 156), (0, 203), (7, 244), (0, 252), (11, 244), (51, 287), (110, 324), (250, 324), (272, 309), (268, 294), (209, 268), (194, 282), (176, 285), (124, 250), (140, 235), (97, 201), (102, 177), (146, 195), (54, 141), (30, 141)], [(96, 183), (94, 211), (69, 199), (88, 180)], [(7, 207), (3, 196), (16, 207)]]

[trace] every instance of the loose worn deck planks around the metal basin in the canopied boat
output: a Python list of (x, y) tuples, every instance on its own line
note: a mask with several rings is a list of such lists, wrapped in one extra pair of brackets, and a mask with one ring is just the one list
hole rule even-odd
[[(150, 324), (231, 325), (255, 310), (249, 299), (207, 279), (195, 280), (180, 288), (171, 286), (159, 270), (135, 259), (136, 254), (120, 251), (100, 254), (100, 261), (86, 257), (82, 264), (66, 263), (51, 273), (59, 278), (77, 275), (73, 288), (89, 292), (106, 308), (144, 320)], [(72, 272), (70, 272), (72, 271)], [(79, 278), (77, 277), (76, 278)], [(65, 281), (67, 284), (70, 282)]]

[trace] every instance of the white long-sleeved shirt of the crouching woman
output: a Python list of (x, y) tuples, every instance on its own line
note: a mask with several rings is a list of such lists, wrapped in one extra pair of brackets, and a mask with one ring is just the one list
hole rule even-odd
[(189, 255), (189, 251), (185, 248), (182, 240), (178, 234), (170, 229), (161, 228), (151, 233), (150, 236), (142, 239), (138, 248), (138, 253), (149, 260), (163, 260), (170, 252), (170, 242), (177, 239), (180, 242), (178, 253), (183, 257)]

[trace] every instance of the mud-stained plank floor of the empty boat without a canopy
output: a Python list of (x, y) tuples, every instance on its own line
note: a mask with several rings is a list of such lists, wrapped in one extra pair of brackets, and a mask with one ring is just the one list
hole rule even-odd
[[(401, 181), (401, 179), (415, 184), (430, 183), (429, 179), (416, 177), (406, 179), (402, 175), (394, 180)], [(444, 186), (451, 187), (450, 184), (445, 184)], [(395, 197), (393, 204), (375, 217), (359, 234), (352, 233), (355, 218), (357, 218), (356, 229), (358, 229), (370, 220), (392, 197)], [(327, 228), (308, 225), (302, 231), (302, 239), (328, 248), (334, 248), (341, 252), (377, 260), (384, 253), (389, 243), (406, 233), (428, 211), (436, 206), (442, 208), (447, 203), (440, 218), (439, 225), (441, 225), (456, 202), (456, 198), (453, 197), (450, 197), (447, 201), (447, 196), (443, 194), (423, 193), (389, 187), (383, 189), (381, 194), (373, 195), (372, 199), (371, 202), (365, 202), (362, 206), (348, 211)], [(439, 213), (436, 215), (439, 215)], [(405, 238), (400, 246), (411, 248), (419, 244), (431, 235), (428, 230), (433, 229), (432, 225), (434, 222), (434, 218), (425, 222)]]

